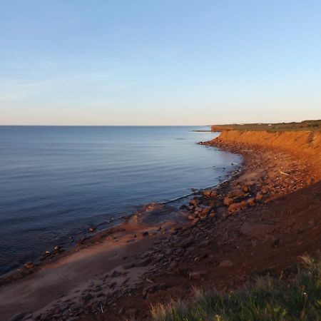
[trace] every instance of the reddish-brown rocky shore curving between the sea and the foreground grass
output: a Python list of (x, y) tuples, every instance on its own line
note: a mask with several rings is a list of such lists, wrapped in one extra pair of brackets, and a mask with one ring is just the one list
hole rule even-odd
[(309, 163), (222, 137), (200, 145), (240, 153), (243, 167), (180, 209), (146, 205), (2, 285), (4, 320), (148, 320), (151, 305), (188, 298), (193, 287), (232, 290), (253, 275), (289, 275), (298, 255), (320, 250), (321, 185)]

